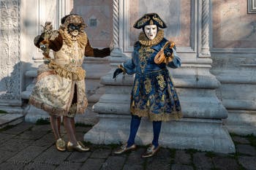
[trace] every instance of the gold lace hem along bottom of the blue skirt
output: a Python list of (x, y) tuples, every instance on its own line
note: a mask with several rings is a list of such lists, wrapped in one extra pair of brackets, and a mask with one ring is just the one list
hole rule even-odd
[(151, 121), (170, 121), (170, 120), (179, 120), (182, 118), (181, 112), (171, 112), (171, 113), (153, 113), (148, 111), (148, 109), (134, 109), (131, 108), (132, 115), (138, 115), (138, 117), (148, 117)]

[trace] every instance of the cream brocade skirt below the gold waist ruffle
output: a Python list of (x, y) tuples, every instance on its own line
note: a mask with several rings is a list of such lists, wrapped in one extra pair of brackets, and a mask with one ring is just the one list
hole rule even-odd
[(44, 64), (39, 67), (29, 104), (45, 110), (50, 115), (73, 117), (86, 110), (88, 101), (85, 88), (85, 80), (71, 80)]

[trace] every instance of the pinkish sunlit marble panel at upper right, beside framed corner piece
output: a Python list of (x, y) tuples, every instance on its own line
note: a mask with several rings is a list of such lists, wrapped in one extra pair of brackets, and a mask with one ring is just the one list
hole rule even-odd
[(243, 0), (212, 1), (213, 47), (256, 48), (256, 15)]

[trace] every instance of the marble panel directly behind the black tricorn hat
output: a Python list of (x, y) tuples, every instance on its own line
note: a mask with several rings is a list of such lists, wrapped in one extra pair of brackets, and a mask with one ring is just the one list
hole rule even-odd
[(146, 13), (156, 12), (165, 21), (165, 37), (176, 42), (177, 46), (189, 47), (191, 25), (191, 1), (146, 0), (129, 1), (129, 39), (132, 47), (138, 40), (141, 30), (133, 28), (133, 24)]

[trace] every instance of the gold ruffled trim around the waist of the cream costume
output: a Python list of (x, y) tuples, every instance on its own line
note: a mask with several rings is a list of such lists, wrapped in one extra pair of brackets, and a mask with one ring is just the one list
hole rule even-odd
[(69, 71), (62, 66), (59, 66), (57, 63), (50, 61), (48, 64), (50, 69), (53, 69), (56, 74), (61, 77), (65, 77), (70, 80), (84, 80), (86, 78), (86, 71), (82, 67), (75, 67), (75, 71)]

